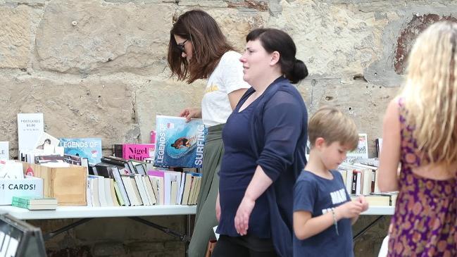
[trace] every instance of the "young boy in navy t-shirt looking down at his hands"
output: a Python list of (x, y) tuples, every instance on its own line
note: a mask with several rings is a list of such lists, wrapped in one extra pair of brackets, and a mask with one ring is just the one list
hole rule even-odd
[(368, 203), (363, 196), (351, 201), (334, 169), (356, 149), (356, 125), (324, 107), (309, 120), (308, 137), (308, 164), (294, 187), (294, 256), (353, 256), (351, 225)]

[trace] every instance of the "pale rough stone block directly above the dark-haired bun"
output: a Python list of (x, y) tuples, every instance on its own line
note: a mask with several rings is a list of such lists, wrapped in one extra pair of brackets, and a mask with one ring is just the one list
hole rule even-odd
[(270, 18), (267, 25), (292, 36), (297, 58), (311, 75), (349, 80), (377, 56), (387, 20), (377, 20), (375, 13), (323, 1), (281, 3), (282, 15)]

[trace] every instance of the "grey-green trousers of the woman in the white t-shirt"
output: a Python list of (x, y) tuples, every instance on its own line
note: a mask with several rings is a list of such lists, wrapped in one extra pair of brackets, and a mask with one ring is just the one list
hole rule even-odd
[(194, 232), (187, 251), (188, 257), (204, 257), (209, 240), (215, 239), (213, 227), (218, 225), (215, 218), (215, 200), (219, 192), (218, 172), (224, 153), (223, 127), (224, 125), (215, 125), (208, 128), (201, 170), (203, 177), (196, 206)]

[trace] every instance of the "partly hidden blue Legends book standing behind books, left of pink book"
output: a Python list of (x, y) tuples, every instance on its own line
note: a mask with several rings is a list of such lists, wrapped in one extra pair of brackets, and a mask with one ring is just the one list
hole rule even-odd
[(94, 165), (101, 161), (100, 138), (61, 138), (60, 140), (60, 146), (63, 146), (65, 154), (85, 157), (89, 164)]

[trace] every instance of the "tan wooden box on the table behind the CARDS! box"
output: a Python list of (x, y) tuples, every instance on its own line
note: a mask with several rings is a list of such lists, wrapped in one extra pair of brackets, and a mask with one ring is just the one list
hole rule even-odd
[(51, 168), (23, 163), (24, 173), (43, 179), (43, 196), (54, 197), (59, 206), (86, 206), (87, 171), (85, 167), (70, 165)]

